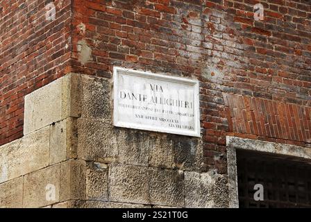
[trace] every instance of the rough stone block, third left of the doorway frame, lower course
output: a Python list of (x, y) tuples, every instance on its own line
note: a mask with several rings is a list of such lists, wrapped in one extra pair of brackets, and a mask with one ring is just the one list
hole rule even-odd
[(147, 167), (112, 165), (109, 171), (109, 201), (149, 204)]

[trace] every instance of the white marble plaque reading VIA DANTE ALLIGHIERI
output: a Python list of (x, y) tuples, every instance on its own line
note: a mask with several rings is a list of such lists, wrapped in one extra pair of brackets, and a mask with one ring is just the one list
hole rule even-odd
[(114, 67), (113, 125), (200, 137), (199, 81)]

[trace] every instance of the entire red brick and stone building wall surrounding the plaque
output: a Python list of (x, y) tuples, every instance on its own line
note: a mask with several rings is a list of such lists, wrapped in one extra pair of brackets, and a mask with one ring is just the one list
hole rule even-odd
[[(235, 206), (226, 137), (311, 148), (310, 37), (308, 0), (0, 0), (0, 207)], [(201, 137), (112, 126), (115, 66), (199, 80)]]

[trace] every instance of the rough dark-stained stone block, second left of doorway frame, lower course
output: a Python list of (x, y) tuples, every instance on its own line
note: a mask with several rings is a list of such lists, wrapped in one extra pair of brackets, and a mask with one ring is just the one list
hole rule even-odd
[(149, 168), (150, 200), (154, 205), (185, 206), (183, 171)]

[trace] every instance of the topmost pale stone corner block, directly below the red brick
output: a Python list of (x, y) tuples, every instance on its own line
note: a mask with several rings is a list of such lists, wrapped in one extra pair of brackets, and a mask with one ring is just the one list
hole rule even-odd
[(68, 74), (25, 96), (24, 135), (80, 115), (80, 75)]

